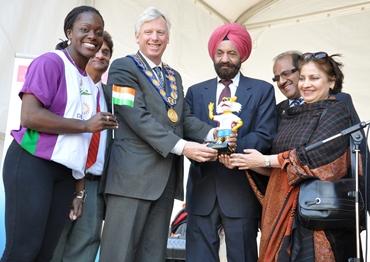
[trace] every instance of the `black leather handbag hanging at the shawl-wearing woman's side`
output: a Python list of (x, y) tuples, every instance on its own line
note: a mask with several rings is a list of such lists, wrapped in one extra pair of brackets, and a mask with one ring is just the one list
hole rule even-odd
[[(352, 171), (349, 172), (349, 178), (342, 178), (334, 182), (309, 179), (301, 184), (297, 207), (298, 220), (301, 225), (314, 230), (355, 230), (356, 180), (353, 172), (355, 164), (353, 155), (351, 150)], [(364, 201), (361, 194), (363, 185), (363, 177), (360, 176), (359, 210), (362, 225), (365, 220)], [(364, 227), (361, 226), (361, 229)]]

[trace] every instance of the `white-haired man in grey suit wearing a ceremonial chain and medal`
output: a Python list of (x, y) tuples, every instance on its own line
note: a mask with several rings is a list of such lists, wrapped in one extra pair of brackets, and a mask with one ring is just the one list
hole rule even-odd
[(101, 261), (165, 260), (174, 198), (183, 198), (183, 155), (216, 159), (203, 142), (212, 127), (190, 115), (181, 77), (162, 62), (170, 24), (157, 9), (139, 18), (136, 54), (115, 60), (109, 70), (115, 130), (105, 194)]

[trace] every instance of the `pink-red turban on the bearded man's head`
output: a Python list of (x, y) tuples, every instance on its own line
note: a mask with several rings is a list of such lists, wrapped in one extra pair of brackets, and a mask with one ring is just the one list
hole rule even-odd
[(223, 40), (230, 40), (235, 45), (242, 63), (248, 59), (252, 51), (252, 39), (244, 26), (231, 23), (216, 28), (208, 41), (208, 52), (212, 60), (218, 44)]

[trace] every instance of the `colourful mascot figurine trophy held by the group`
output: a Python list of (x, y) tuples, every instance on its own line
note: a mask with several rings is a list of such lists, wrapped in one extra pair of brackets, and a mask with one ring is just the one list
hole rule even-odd
[(216, 142), (208, 144), (209, 147), (217, 149), (219, 154), (230, 154), (233, 150), (227, 142), (232, 133), (236, 133), (243, 125), (240, 117), (233, 112), (240, 112), (242, 106), (236, 102), (237, 97), (224, 97), (216, 108), (216, 115), (213, 114), (214, 103), (209, 103), (208, 114), (211, 120), (218, 122)]

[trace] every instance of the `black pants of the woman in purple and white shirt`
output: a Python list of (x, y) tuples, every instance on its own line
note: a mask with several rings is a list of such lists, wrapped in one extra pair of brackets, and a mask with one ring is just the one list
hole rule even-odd
[(71, 170), (35, 157), (13, 141), (3, 180), (6, 244), (1, 262), (49, 261), (73, 199)]

